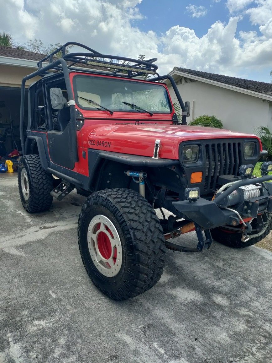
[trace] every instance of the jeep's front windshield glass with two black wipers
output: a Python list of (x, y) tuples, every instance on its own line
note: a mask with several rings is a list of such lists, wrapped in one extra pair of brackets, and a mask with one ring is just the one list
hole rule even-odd
[[(159, 84), (122, 79), (75, 76), (75, 100), (81, 109), (138, 113), (170, 113), (166, 89)], [(92, 100), (94, 103), (88, 102)], [(98, 105), (101, 105), (99, 107)], [(131, 107), (137, 106), (136, 107)]]

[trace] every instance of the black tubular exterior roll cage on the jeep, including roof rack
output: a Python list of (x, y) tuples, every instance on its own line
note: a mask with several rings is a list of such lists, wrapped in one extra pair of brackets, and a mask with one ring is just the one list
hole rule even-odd
[[(80, 48), (88, 50), (89, 53), (66, 53), (67, 46), (79, 46)], [(54, 59), (54, 55), (61, 52), (62, 57)], [(92, 59), (95, 65), (94, 67), (104, 67), (107, 68), (107, 65), (110, 68), (108, 71), (101, 71), (101, 70), (94, 70), (93, 68), (84, 68), (85, 73), (92, 73), (92, 74), (102, 74), (102, 75), (110, 75), (115, 77), (124, 77), (124, 78), (133, 78), (138, 76), (144, 76), (146, 73), (154, 74), (154, 78), (148, 79), (150, 82), (157, 82), (162, 81), (163, 79), (168, 79), (173, 87), (173, 90), (176, 94), (177, 100), (179, 101), (181, 110), (182, 110), (182, 124), (186, 125), (186, 109), (183, 103), (183, 100), (180, 96), (179, 90), (177, 89), (176, 83), (173, 77), (169, 76), (168, 74), (165, 76), (159, 76), (156, 72), (158, 66), (154, 64), (157, 61), (157, 58), (151, 58), (146, 61), (142, 60), (135, 60), (133, 58), (127, 57), (120, 57), (120, 56), (111, 56), (109, 54), (101, 54), (96, 50), (89, 48), (83, 44), (77, 42), (67, 42), (66, 44), (60, 46), (56, 49), (53, 53), (49, 54), (48, 56), (44, 57), (42, 60), (38, 62), (38, 70), (29, 74), (28, 76), (22, 79), (21, 84), (21, 105), (20, 105), (20, 140), (22, 146), (22, 154), (25, 155), (25, 139), (24, 139), (24, 102), (25, 102), (25, 83), (31, 78), (36, 76), (43, 77), (46, 74), (52, 74), (49, 70), (55, 70), (56, 72), (63, 72), (64, 81), (67, 86), (67, 95), (68, 95), (68, 106), (70, 107), (70, 114), (71, 119), (75, 119), (76, 111), (75, 111), (75, 100), (74, 95), (72, 93), (71, 82), (69, 78), (69, 72), (71, 70), (74, 71), (81, 71), (82, 68), (74, 66), (75, 64), (88, 64), (88, 60)], [(102, 60), (101, 60), (102, 59)], [(106, 61), (108, 59), (108, 61)], [(115, 63), (116, 61), (122, 61), (122, 63)], [(42, 66), (42, 63), (45, 61), (49, 61), (49, 64)], [(70, 63), (70, 64), (67, 64)], [(125, 64), (124, 62), (133, 63), (133, 65)], [(113, 67), (116, 65), (116, 67)], [(118, 65), (120, 68), (118, 68)], [(124, 69), (125, 68), (125, 69)], [(146, 72), (145, 72), (146, 71)], [(121, 73), (120, 73), (121, 72)], [(55, 72), (54, 72), (55, 73)], [(78, 162), (78, 151), (77, 151), (77, 140), (76, 140), (76, 123), (71, 123), (71, 131), (72, 131), (72, 155), (74, 162)]]

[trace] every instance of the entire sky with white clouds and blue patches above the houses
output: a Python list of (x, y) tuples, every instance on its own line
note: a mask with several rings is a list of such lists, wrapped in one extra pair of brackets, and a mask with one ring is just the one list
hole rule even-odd
[(271, 82), (272, 0), (0, 0), (0, 31), (26, 43), (77, 41), (101, 53)]

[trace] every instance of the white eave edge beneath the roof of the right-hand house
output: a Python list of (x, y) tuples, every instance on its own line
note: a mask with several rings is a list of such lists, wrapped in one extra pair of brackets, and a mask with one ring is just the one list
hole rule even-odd
[(210, 85), (214, 85), (214, 86), (222, 87), (222, 88), (229, 89), (229, 90), (232, 90), (232, 91), (247, 94), (247, 95), (250, 95), (250, 96), (258, 97), (258, 98), (261, 98), (261, 99), (265, 99), (267, 101), (272, 101), (272, 96), (269, 96), (267, 94), (259, 93), (259, 92), (255, 92), (255, 91), (251, 91), (251, 90), (246, 90), (246, 89), (236, 87), (236, 86), (227, 85), (226, 83), (213, 81), (211, 79), (206, 79), (206, 78), (202, 78), (202, 77), (198, 77), (198, 76), (193, 76), (192, 74), (188, 74), (186, 72), (180, 72), (180, 71), (177, 71), (177, 70), (172, 70), (169, 73), (169, 75), (172, 76), (172, 77), (173, 76), (187, 77), (187, 78), (190, 78), (190, 79), (194, 79), (195, 81), (199, 81), (199, 82), (203, 82), (203, 83), (209, 83)]

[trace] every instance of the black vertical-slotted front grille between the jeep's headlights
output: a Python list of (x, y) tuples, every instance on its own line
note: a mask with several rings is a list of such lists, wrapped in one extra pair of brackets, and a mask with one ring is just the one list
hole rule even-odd
[(239, 168), (240, 142), (215, 142), (204, 144), (206, 175), (204, 191), (217, 189), (219, 175), (237, 175)]

